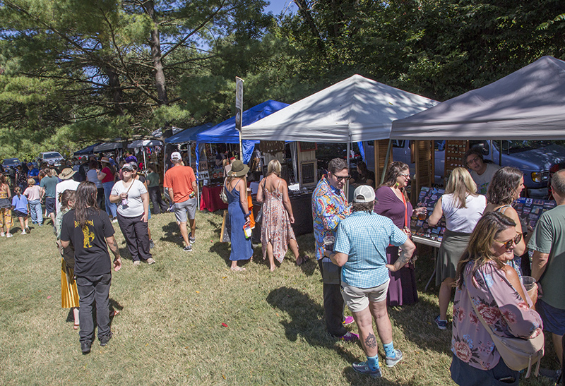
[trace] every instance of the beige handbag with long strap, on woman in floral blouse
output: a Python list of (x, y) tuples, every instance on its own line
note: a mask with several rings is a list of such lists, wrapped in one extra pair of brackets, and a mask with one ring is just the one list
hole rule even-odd
[(467, 294), (471, 301), (473, 310), (475, 310), (475, 313), (481, 321), (484, 329), (489, 333), (494, 346), (496, 346), (496, 350), (499, 351), (499, 354), (504, 363), (506, 363), (506, 366), (516, 371), (528, 368), (525, 378), (530, 378), (532, 365), (537, 362), (537, 367), (535, 369), (535, 376), (537, 377), (540, 373), (540, 363), (544, 354), (545, 340), (543, 332), (540, 332), (537, 337), (531, 339), (499, 337), (499, 335), (492, 332), (490, 326), (487, 325), (487, 322), (484, 321), (482, 315), (479, 311), (477, 311), (469, 291), (467, 291)]

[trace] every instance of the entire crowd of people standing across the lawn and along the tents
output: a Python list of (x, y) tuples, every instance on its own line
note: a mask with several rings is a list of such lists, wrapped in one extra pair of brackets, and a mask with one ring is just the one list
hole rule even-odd
[[(173, 152), (163, 186), (172, 199), (170, 210), (182, 235), (184, 251), (196, 242), (196, 176), (185, 166), (179, 152)], [(45, 167), (31, 171), (28, 179), (14, 176), (13, 193), (6, 176), (0, 176), (1, 236), (11, 237), (12, 213), (20, 221), (22, 234), (32, 224), (52, 219), (61, 260), (61, 293), (65, 308), (73, 308), (74, 327), (80, 326), (83, 354), (90, 352), (95, 337), (93, 305), (96, 304), (97, 337), (105, 346), (112, 338), (109, 327), (109, 287), (112, 265), (108, 248), (114, 254), (114, 270), (121, 268), (121, 256), (114, 239), (112, 222), (121, 229), (133, 265), (155, 263), (150, 252), (150, 200), (154, 213), (168, 210), (162, 200), (160, 178), (150, 167), (147, 178), (138, 175), (135, 160), (119, 164), (108, 157), (90, 159), (83, 181), (74, 179), (78, 170)], [(223, 160), (220, 160), (222, 162)], [(439, 315), (434, 324), (440, 330), (451, 320), (451, 377), (458, 385), (504, 382), (517, 385), (520, 373), (506, 364), (492, 334), (503, 338), (535, 339), (542, 330), (552, 334), (560, 361), (565, 332), (565, 303), (561, 278), (565, 273), (565, 171), (554, 174), (552, 191), (557, 207), (542, 215), (535, 229), (521, 224), (511, 204), (523, 190), (523, 175), (513, 167), (485, 167), (480, 152), (471, 150), (463, 158), (468, 169), (451, 172), (446, 191), (427, 221), (434, 227), (446, 219), (446, 232), (436, 259), (436, 285), (439, 286)], [(225, 163), (225, 162), (224, 162)], [(234, 159), (225, 165), (223, 192), (228, 204), (231, 270), (242, 272), (254, 251), (250, 227), (254, 219), (249, 203), (246, 175), (249, 167)], [(270, 271), (290, 249), (297, 265), (308, 260), (299, 255), (292, 224), (288, 186), (281, 178), (276, 159), (258, 184), (261, 207), (261, 247)], [(492, 174), (487, 176), (486, 174)], [(485, 177), (489, 177), (488, 181)], [(392, 162), (383, 183), (376, 189), (364, 164), (357, 174), (343, 159), (332, 159), (312, 194), (314, 250), (323, 280), (323, 310), (326, 330), (345, 342), (360, 341), (367, 361), (352, 368), (379, 378), (376, 334), (383, 344), (386, 366), (396, 366), (403, 352), (393, 343), (388, 306), (407, 306), (418, 301), (415, 243), (410, 217), (427, 215), (425, 207), (412, 207), (406, 188), (410, 169)], [(352, 203), (344, 192), (345, 183), (354, 184)], [(25, 182), (25, 185), (24, 185)], [(484, 191), (486, 195), (481, 192)], [(104, 201), (105, 215), (101, 210)], [(55, 217), (56, 216), (56, 217)], [(532, 265), (528, 249), (533, 251)], [(526, 290), (523, 278), (537, 284)], [(453, 313), (448, 306), (455, 290)], [(539, 297), (539, 299), (538, 299)], [(345, 305), (352, 317), (345, 318)], [(355, 322), (359, 334), (346, 326)]]

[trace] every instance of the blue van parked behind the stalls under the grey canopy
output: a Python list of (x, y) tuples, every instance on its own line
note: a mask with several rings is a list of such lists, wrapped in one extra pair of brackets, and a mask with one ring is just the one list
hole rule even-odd
[[(410, 165), (414, 172), (415, 164), (411, 161), (410, 140), (393, 140), (393, 159)], [(486, 162), (501, 166), (516, 167), (524, 173), (524, 184), (530, 198), (547, 198), (549, 169), (553, 164), (565, 162), (565, 147), (543, 140), (503, 140), (499, 151), (499, 140), (470, 140), (471, 147), (479, 147)], [(364, 143), (367, 167), (374, 170), (374, 149), (372, 141)], [(435, 148), (435, 183), (444, 185), (445, 141), (434, 141)], [(500, 153), (502, 153), (500, 155)], [(502, 162), (499, 162), (499, 159)]]

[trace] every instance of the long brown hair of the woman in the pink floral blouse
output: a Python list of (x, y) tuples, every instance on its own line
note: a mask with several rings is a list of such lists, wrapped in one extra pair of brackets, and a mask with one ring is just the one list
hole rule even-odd
[(494, 239), (510, 227), (516, 227), (516, 222), (508, 216), (500, 212), (488, 212), (480, 218), (479, 222), (472, 231), (469, 244), (463, 256), (461, 256), (457, 265), (456, 286), (463, 287), (463, 276), (465, 275), (465, 267), (470, 261), (474, 262), (472, 266), (472, 275), (475, 275), (477, 269), (489, 261), (494, 261), (496, 266), (501, 269), (504, 263), (492, 254), (492, 244)]

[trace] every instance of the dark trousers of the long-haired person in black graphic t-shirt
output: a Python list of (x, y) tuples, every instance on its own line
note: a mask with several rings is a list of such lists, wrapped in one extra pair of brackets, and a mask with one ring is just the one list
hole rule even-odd
[(77, 276), (76, 289), (78, 291), (78, 320), (81, 322), (81, 331), (78, 336), (81, 343), (94, 340), (94, 315), (93, 304), (96, 303), (96, 325), (98, 326), (98, 339), (110, 334), (110, 284), (112, 274), (100, 276)]

